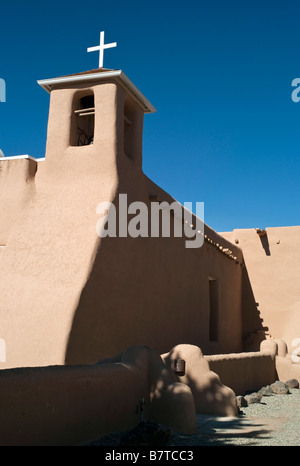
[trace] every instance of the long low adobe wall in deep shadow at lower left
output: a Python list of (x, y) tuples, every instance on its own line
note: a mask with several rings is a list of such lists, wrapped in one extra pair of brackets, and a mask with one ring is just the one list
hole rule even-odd
[(75, 445), (131, 428), (146, 394), (144, 379), (123, 365), (2, 370), (0, 446)]

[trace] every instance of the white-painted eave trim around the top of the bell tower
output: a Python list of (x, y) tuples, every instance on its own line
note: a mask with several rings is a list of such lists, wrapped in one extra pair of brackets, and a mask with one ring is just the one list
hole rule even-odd
[(52, 86), (59, 84), (72, 84), (83, 81), (96, 81), (98, 79), (116, 78), (117, 81), (123, 86), (129, 88), (140, 103), (142, 103), (145, 113), (154, 113), (156, 109), (149, 102), (148, 99), (138, 90), (138, 88), (130, 81), (130, 79), (123, 73), (122, 70), (114, 71), (102, 71), (99, 73), (90, 74), (77, 74), (74, 76), (63, 76), (61, 78), (50, 78), (37, 81), (38, 84), (45, 89), (49, 94), (52, 90)]

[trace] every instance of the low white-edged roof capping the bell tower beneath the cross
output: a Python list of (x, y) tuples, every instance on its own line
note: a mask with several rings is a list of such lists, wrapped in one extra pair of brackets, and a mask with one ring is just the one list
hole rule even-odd
[(156, 112), (156, 109), (153, 107), (153, 105), (148, 101), (148, 99), (146, 99), (146, 97), (139, 91), (139, 89), (132, 83), (132, 81), (130, 81), (130, 79), (122, 70), (98, 68), (95, 70), (83, 71), (58, 78), (42, 79), (38, 81), (38, 84), (43, 89), (45, 89), (45, 91), (51, 93), (51, 91), (56, 87), (68, 86), (70, 84), (74, 85), (77, 83), (94, 84), (108, 79), (120, 84), (142, 107), (144, 113)]

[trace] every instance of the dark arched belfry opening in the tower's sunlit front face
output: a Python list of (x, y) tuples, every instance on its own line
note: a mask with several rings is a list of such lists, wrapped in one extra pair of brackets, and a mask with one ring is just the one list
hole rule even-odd
[[(81, 94), (82, 95), (82, 94)], [(71, 145), (88, 146), (94, 142), (95, 99), (90, 93), (75, 96), (72, 115)]]

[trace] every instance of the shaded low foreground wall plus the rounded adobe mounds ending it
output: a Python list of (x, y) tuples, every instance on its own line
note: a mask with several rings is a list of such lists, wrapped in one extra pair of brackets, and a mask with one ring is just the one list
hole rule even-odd
[(187, 379), (145, 346), (95, 365), (0, 371), (0, 445), (77, 445), (124, 432), (140, 422), (141, 399), (144, 419), (185, 435), (196, 432), (196, 413), (236, 415), (234, 393), (201, 350), (181, 345), (164, 357), (170, 362), (178, 355), (186, 360)]

